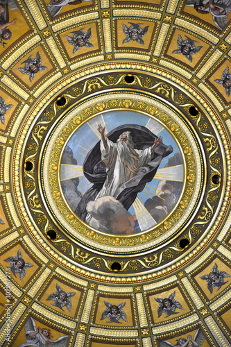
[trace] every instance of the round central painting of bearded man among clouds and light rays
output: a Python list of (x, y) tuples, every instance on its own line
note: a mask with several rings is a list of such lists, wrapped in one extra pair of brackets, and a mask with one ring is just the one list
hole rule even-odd
[(76, 130), (60, 165), (69, 208), (88, 226), (114, 235), (153, 228), (180, 201), (185, 164), (161, 121), (114, 110)]

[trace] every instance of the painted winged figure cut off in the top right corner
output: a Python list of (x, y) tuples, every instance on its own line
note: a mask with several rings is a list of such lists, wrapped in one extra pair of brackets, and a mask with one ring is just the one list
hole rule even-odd
[(194, 6), (203, 15), (211, 14), (214, 24), (221, 30), (228, 24), (231, 0), (187, 0), (186, 6)]

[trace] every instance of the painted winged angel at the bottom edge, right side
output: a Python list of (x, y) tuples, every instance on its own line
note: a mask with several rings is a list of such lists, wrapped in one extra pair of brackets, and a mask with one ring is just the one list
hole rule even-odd
[(191, 335), (187, 336), (187, 339), (185, 337), (180, 337), (180, 339), (176, 340), (176, 345), (173, 345), (169, 341), (160, 341), (159, 346), (160, 347), (202, 347), (203, 342), (205, 341), (205, 336), (202, 332), (202, 330), (199, 328), (196, 330), (194, 334), (194, 338), (191, 337)]

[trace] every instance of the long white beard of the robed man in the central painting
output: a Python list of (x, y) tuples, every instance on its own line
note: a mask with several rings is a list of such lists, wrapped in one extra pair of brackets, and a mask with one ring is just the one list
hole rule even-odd
[(117, 141), (117, 148), (121, 162), (133, 173), (137, 173), (137, 153), (132, 144), (127, 139), (125, 142)]

